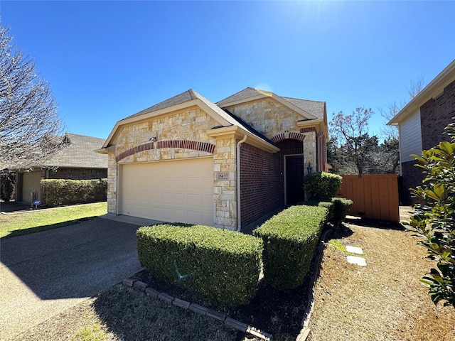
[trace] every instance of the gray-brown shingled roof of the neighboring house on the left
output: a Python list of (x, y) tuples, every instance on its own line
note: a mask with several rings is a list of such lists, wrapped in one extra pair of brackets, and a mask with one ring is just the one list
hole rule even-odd
[(96, 153), (105, 139), (77, 134), (65, 134), (63, 147), (39, 166), (65, 168), (107, 168), (107, 156)]

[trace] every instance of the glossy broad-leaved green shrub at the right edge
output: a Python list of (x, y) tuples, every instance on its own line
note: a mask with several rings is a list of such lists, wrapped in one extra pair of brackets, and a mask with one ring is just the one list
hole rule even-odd
[(437, 269), (430, 269), (421, 282), (435, 305), (441, 301), (455, 308), (455, 123), (444, 134), (451, 142), (422, 151), (422, 156), (412, 155), (427, 178), (424, 185), (411, 189), (424, 203), (414, 205), (408, 225), (423, 238), (417, 244), (427, 249), (427, 258), (436, 261)]

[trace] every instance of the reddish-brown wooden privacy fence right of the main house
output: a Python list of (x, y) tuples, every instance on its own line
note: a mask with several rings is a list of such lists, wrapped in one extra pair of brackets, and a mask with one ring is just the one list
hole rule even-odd
[(336, 196), (353, 200), (349, 215), (387, 222), (400, 221), (397, 175), (342, 176), (343, 183)]

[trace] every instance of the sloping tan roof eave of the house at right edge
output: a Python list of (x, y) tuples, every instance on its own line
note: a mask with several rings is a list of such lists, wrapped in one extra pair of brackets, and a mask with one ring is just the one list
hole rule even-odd
[(405, 105), (403, 109), (398, 112), (387, 124), (392, 126), (400, 125), (410, 115), (417, 112), (423, 104), (427, 103), (429, 99), (438, 97), (444, 91), (444, 87), (455, 81), (455, 60), (439, 73), (434, 80), (419, 92), (416, 97)]

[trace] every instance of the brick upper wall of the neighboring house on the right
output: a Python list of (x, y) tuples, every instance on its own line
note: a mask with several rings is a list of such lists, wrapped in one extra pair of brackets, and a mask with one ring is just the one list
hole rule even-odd
[(442, 131), (454, 121), (452, 117), (455, 117), (455, 81), (444, 88), (441, 96), (430, 99), (420, 107), (423, 149), (429, 149), (441, 141), (450, 140), (449, 136), (442, 134)]

